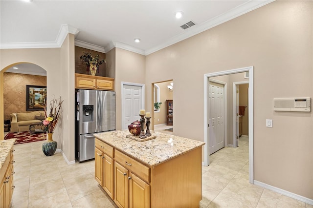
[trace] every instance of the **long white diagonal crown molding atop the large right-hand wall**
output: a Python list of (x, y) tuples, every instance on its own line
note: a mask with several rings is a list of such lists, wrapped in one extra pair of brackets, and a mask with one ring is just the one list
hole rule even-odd
[(187, 38), (190, 38), (194, 35), (197, 35), (205, 30), (211, 29), (219, 24), (222, 24), (226, 21), (230, 21), (232, 19), (235, 19), (241, 15), (244, 15), (250, 11), (253, 11), (257, 8), (260, 8), (268, 3), (271, 3), (275, 0), (264, 0), (264, 1), (259, 1), (259, 0), (250, 0), (247, 1), (245, 4), (242, 4), (220, 16), (217, 16), (211, 20), (205, 21), (204, 23), (200, 24), (200, 25), (195, 25), (192, 28), (188, 29), (188, 31), (186, 31), (183, 34), (174, 36), (173, 38), (170, 38), (169, 40), (167, 40), (166, 42), (157, 45), (156, 47), (150, 48), (148, 50), (145, 51), (145, 55), (149, 55), (152, 54), (158, 50), (161, 50), (163, 48), (166, 48), (170, 45), (173, 45), (177, 42), (183, 41)]

